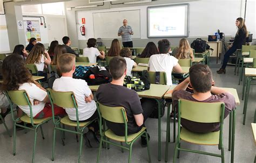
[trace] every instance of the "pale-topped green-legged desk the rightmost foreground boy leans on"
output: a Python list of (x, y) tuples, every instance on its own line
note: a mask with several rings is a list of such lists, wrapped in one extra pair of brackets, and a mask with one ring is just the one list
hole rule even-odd
[[(173, 90), (176, 86), (172, 85), (169, 90)], [(221, 88), (224, 89), (228, 92), (230, 92), (235, 99), (235, 103), (237, 105), (240, 105), (240, 101), (239, 101), (239, 97), (237, 94), (237, 90), (234, 88)], [(172, 94), (165, 94), (164, 95), (165, 99), (172, 99)], [(168, 103), (167, 105), (167, 125), (166, 125), (166, 146), (165, 146), (165, 161), (168, 160), (168, 143), (170, 142), (170, 105), (171, 102)], [(174, 110), (174, 114), (175, 114), (175, 110)], [(173, 121), (173, 127), (175, 127), (176, 125), (176, 121)], [(176, 138), (176, 128), (173, 128), (173, 142), (175, 142), (175, 138)], [(235, 140), (235, 109), (230, 112), (230, 127), (229, 127), (229, 132), (228, 132), (228, 151), (231, 151), (231, 162), (234, 162), (234, 140)]]

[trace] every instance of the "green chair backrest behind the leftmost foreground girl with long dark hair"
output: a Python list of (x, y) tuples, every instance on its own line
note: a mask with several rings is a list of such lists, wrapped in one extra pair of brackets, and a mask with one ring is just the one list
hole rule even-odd
[(27, 106), (31, 104), (28, 98), (29, 96), (26, 94), (25, 90), (9, 90), (7, 91), (7, 94), (10, 97), (11, 102), (16, 105)]

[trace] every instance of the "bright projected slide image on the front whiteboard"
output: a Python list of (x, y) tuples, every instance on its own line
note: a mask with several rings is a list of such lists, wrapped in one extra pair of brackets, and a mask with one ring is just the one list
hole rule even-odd
[(186, 6), (149, 10), (149, 37), (186, 35)]

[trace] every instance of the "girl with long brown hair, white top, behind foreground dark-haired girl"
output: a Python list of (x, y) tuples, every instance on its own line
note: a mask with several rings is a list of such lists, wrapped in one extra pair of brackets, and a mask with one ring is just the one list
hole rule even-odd
[(26, 58), (26, 63), (35, 64), (38, 70), (38, 76), (44, 76), (44, 79), (41, 81), (47, 80), (47, 73), (44, 73), (44, 64), (50, 65), (51, 58), (44, 50), (44, 45), (41, 43), (37, 43), (32, 51), (29, 53), (28, 58)]

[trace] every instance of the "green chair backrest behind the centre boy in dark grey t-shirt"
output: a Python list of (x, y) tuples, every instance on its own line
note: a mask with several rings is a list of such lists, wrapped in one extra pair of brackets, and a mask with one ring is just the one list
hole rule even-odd
[(113, 123), (125, 123), (127, 122), (126, 112), (123, 107), (107, 107), (98, 102), (98, 108), (101, 116), (107, 121)]

